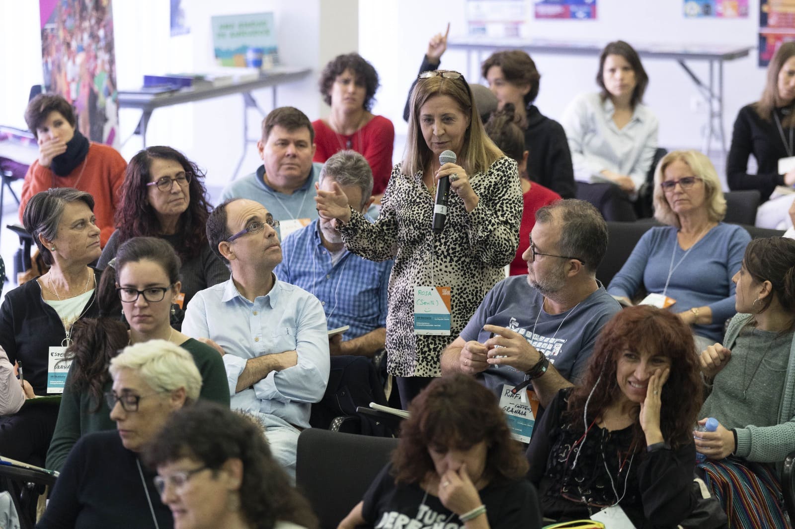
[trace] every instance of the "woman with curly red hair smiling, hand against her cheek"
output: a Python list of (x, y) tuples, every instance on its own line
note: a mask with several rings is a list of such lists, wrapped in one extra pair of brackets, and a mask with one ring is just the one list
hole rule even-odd
[(527, 450), (545, 518), (619, 506), (634, 527), (677, 527), (692, 512), (698, 362), (669, 311), (630, 307), (604, 326), (584, 384), (560, 390)]

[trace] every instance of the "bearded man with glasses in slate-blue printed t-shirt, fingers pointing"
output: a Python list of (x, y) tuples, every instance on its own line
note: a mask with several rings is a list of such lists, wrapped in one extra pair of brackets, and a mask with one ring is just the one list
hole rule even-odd
[(580, 380), (605, 323), (621, 307), (596, 280), (607, 224), (590, 203), (561, 200), (536, 212), (526, 276), (491, 289), (455, 341), (442, 373), (466, 373), (504, 395), (530, 381), (541, 405)]

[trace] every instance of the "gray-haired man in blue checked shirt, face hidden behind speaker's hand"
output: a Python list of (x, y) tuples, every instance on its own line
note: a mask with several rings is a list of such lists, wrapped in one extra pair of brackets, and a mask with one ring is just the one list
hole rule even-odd
[[(340, 151), (320, 171), (320, 189), (339, 186), (348, 204), (363, 214), (373, 199), (373, 172), (355, 151)], [(312, 201), (314, 203), (314, 201)], [(277, 276), (316, 295), (329, 330), (350, 326), (329, 338), (332, 355), (372, 357), (386, 341), (386, 290), (393, 261), (376, 263), (350, 253), (331, 220), (318, 218), (285, 238)]]

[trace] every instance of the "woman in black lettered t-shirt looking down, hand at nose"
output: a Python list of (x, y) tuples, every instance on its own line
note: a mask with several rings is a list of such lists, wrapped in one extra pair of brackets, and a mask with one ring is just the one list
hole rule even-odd
[(527, 462), (487, 388), (466, 375), (436, 378), (409, 413), (392, 462), (339, 529), (386, 527), (379, 522), (387, 519), (394, 527), (414, 527), (411, 520), (421, 527), (541, 527)]

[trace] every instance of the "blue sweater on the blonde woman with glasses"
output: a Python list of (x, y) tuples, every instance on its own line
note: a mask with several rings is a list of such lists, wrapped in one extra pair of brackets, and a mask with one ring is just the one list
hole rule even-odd
[(671, 310), (678, 313), (692, 307), (710, 307), (712, 323), (693, 326), (693, 332), (719, 342), (723, 323), (735, 315), (735, 284), (731, 277), (740, 269), (749, 242), (750, 235), (742, 227), (720, 222), (682, 259), (685, 252), (677, 241), (677, 229), (653, 227), (638, 241), (607, 292), (632, 299), (644, 287), (649, 293), (661, 294), (669, 270), (673, 269), (665, 292), (677, 300)]

